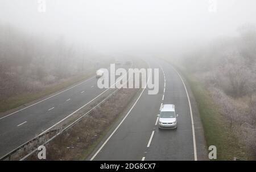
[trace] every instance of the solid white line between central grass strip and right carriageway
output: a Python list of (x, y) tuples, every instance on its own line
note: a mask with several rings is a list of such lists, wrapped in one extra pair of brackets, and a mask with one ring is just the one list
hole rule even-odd
[[(149, 66), (149, 65), (148, 65)], [(151, 77), (151, 75), (148, 77), (148, 80), (149, 78)], [(147, 83), (148, 83), (148, 80), (147, 80)], [(105, 146), (106, 143), (108, 143), (108, 141), (110, 140), (110, 138), (115, 134), (115, 132), (117, 131), (117, 129), (121, 126), (121, 124), (123, 123), (123, 121), (125, 121), (125, 119), (127, 118), (127, 116), (130, 114), (131, 110), (133, 110), (134, 106), (137, 104), (137, 102), (139, 101), (139, 98), (141, 98), (142, 96), (142, 93), (144, 92), (144, 90), (146, 89), (147, 87), (147, 84), (145, 85), (145, 87), (143, 88), (141, 94), (139, 94), (139, 97), (137, 98), (137, 100), (134, 102), (133, 106), (131, 106), (130, 110), (128, 111), (128, 113), (125, 115), (125, 117), (122, 119), (122, 121), (118, 124), (118, 126), (115, 128), (115, 130), (112, 132), (112, 134), (110, 134), (110, 136), (108, 137), (108, 139), (105, 140), (105, 142), (101, 145), (101, 147), (98, 149), (98, 151), (93, 155), (92, 158), (90, 158), (90, 161), (92, 161), (96, 156), (97, 154), (101, 151), (101, 149)]]

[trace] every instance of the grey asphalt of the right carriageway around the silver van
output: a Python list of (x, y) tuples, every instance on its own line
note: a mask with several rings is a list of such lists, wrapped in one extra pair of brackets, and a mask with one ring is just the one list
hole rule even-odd
[[(179, 74), (169, 63), (159, 59), (147, 61), (151, 68), (159, 68), (159, 93), (149, 95), (148, 89), (144, 89), (88, 160), (207, 160), (203, 129), (191, 97), (189, 108), (190, 91), (187, 94)], [(156, 115), (162, 103), (175, 104), (179, 114), (177, 130), (158, 129)]]

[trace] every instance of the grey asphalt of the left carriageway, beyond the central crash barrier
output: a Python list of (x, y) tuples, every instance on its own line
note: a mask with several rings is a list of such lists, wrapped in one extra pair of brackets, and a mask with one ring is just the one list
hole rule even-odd
[(97, 87), (93, 76), (32, 106), (0, 117), (0, 157), (47, 131), (105, 90)]

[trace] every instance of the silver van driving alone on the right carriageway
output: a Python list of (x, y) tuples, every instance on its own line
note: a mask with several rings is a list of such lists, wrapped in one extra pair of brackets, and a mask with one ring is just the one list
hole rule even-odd
[(174, 105), (163, 105), (158, 115), (159, 128), (177, 128), (177, 116)]

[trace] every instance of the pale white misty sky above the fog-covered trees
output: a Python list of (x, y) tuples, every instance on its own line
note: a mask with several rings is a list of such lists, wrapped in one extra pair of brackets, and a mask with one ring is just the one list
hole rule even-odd
[(242, 24), (256, 23), (255, 0), (1, 0), (0, 23), (39, 36), (63, 36), (98, 50), (146, 48), (175, 42), (234, 36)]

